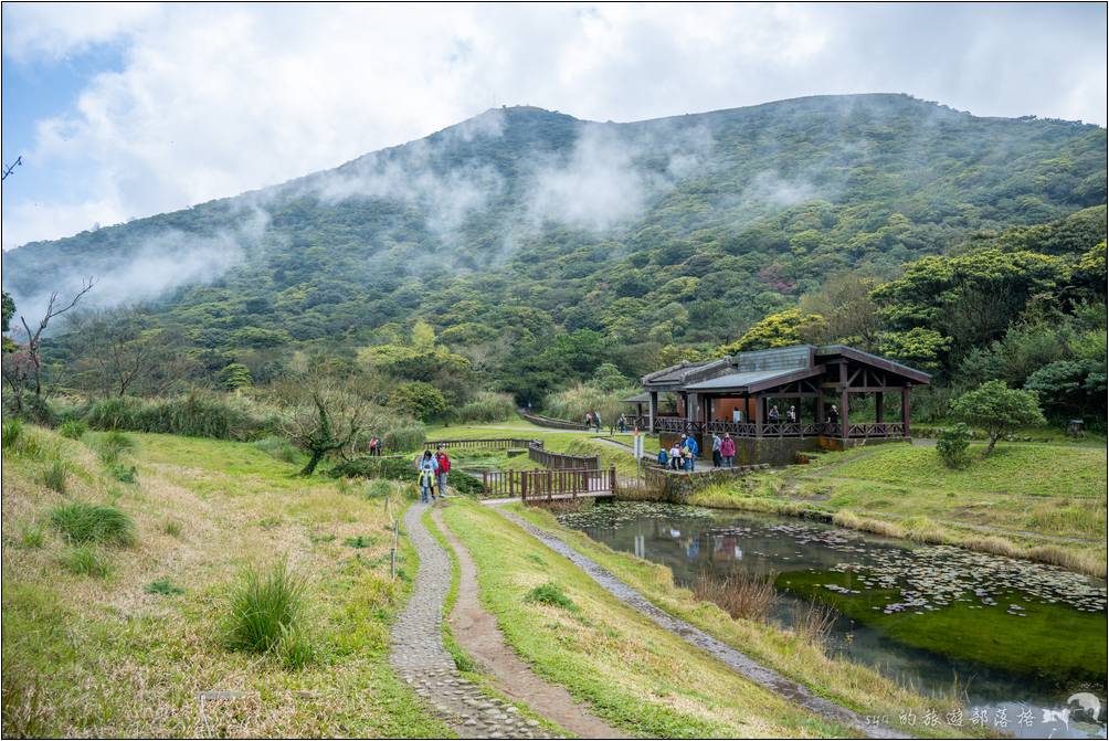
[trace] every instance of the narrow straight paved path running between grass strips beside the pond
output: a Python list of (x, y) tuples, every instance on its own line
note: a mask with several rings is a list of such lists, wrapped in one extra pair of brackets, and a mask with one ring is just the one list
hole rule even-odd
[(803, 684), (798, 684), (797, 682), (783, 677), (773, 669), (762, 666), (751, 657), (737, 651), (723, 641), (713, 638), (700, 628), (696, 628), (695, 626), (659, 609), (638, 590), (614, 577), (611, 572), (597, 564), (597, 561), (582, 556), (554, 535), (536, 527), (515, 512), (505, 511), (500, 507), (496, 506), (492, 507), (492, 509), (523, 528), (527, 532), (545, 544), (554, 552), (568, 558), (574, 566), (592, 577), (593, 581), (614, 595), (620, 601), (634, 608), (662, 628), (681, 636), (693, 646), (708, 651), (710, 654), (720, 661), (723, 661), (731, 669), (751, 681), (765, 687), (772, 692), (775, 692), (786, 700), (800, 704), (818, 715), (823, 715), (838, 723), (843, 723), (844, 725), (852, 727), (867, 738), (909, 738), (894, 729), (867, 723), (866, 720), (855, 711), (836, 704), (830, 700), (825, 700), (824, 698), (816, 697)]

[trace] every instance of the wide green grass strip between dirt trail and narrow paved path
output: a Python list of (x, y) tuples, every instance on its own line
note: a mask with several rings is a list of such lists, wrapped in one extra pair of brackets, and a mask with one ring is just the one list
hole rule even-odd
[(496, 512), (461, 503), (444, 519), (472, 554), (482, 603), (512, 648), (629, 733), (852, 734), (691, 649)]

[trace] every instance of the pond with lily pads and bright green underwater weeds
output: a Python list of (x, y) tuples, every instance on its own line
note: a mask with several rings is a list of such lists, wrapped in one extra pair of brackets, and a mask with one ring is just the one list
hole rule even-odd
[[(772, 578), (771, 620), (783, 627), (813, 601), (834, 608), (828, 650), (936, 697), (942, 717), (958, 712), (1018, 738), (1106, 738), (1103, 579), (681, 505), (598, 504), (559, 520), (670, 567), (681, 586), (702, 576)], [(953, 691), (962, 708), (943, 707)]]

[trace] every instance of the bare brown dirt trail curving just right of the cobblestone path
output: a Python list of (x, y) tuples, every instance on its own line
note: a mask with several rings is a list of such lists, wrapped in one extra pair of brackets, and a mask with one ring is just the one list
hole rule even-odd
[(439, 510), (431, 515), (436, 526), (458, 556), (458, 600), (448, 618), (455, 639), (481, 668), (495, 678), (497, 689), (566, 730), (587, 739), (627, 739), (627, 734), (590, 714), (562, 687), (537, 677), (505, 642), (497, 619), (478, 600), (477, 567), (470, 554), (442, 522)]

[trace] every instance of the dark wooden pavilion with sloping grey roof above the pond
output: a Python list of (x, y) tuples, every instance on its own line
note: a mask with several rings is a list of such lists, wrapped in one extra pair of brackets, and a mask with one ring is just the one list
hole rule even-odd
[[(643, 377), (645, 397), (629, 402), (645, 398), (647, 415), (638, 422), (664, 436), (728, 433), (843, 448), (909, 437), (912, 388), (929, 380), (923, 370), (846, 345), (795, 345), (663, 368)], [(676, 415), (659, 413), (660, 394), (676, 398)], [(899, 405), (891, 405), (897, 397)], [(873, 407), (873, 419), (853, 415), (853, 404)], [(893, 419), (887, 405), (897, 407)]]

